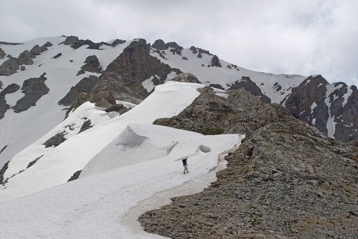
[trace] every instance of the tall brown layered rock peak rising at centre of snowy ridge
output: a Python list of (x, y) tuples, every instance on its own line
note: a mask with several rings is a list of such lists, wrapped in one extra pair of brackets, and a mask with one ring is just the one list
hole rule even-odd
[(132, 42), (105, 70), (138, 83), (154, 75), (164, 81), (171, 71), (175, 70), (149, 54), (149, 47), (144, 39)]

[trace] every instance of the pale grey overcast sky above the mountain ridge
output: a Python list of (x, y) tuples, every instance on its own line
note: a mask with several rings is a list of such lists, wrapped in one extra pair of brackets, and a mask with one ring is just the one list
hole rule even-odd
[(357, 0), (0, 0), (0, 41), (160, 38), (250, 70), (357, 85), (357, 12)]

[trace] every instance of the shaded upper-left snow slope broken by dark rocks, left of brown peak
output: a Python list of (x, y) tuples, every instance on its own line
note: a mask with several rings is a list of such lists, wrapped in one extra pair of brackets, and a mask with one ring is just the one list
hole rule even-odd
[[(96, 55), (103, 69), (106, 69), (118, 55), (123, 52), (132, 41), (119, 44), (105, 50), (86, 49), (88, 45), (81, 46), (74, 50), (70, 46), (59, 43), (66, 38), (63, 36), (38, 38), (26, 41), (21, 45), (0, 45), (6, 54), (18, 57), (24, 50), (31, 50), (35, 45), (42, 46), (47, 41), (53, 44), (48, 47), (47, 51), (38, 55), (32, 65), (26, 65), (26, 70), (12, 74), (10, 76), (0, 76), (3, 82), (3, 89), (12, 84), (18, 84), (20, 88), (24, 80), (29, 78), (38, 78), (44, 72), (46, 73), (46, 86), (50, 89), (49, 93), (43, 95), (30, 109), (21, 113), (14, 113), (12, 109), (6, 111), (3, 119), (0, 119), (0, 150), (5, 146), (8, 147), (0, 154), (0, 165), (11, 159), (21, 150), (31, 145), (43, 135), (52, 130), (64, 119), (66, 111), (63, 106), (57, 105), (72, 86), (76, 85), (81, 79), (89, 75), (99, 76), (100, 74), (86, 72), (79, 76), (77, 72), (84, 65), (87, 56)], [(62, 53), (57, 59), (53, 56)], [(8, 58), (0, 60), (2, 64)], [(72, 61), (72, 62), (71, 62)], [(5, 96), (7, 104), (14, 106), (16, 101), (24, 96), (21, 90)]]

